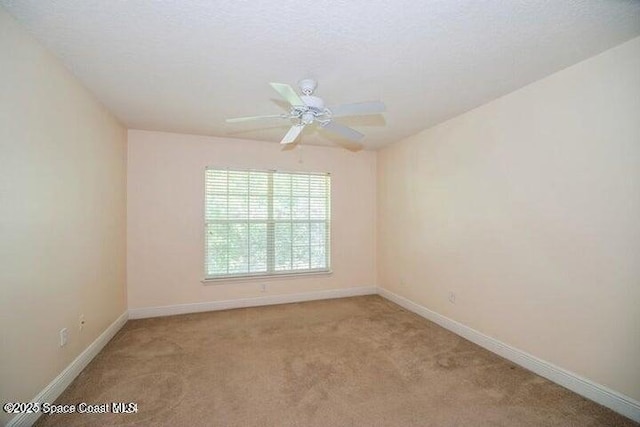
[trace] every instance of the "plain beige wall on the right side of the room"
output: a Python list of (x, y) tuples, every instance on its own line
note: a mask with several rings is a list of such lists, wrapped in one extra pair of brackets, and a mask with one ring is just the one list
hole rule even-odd
[(640, 400), (640, 38), (381, 151), (378, 186), (379, 286)]

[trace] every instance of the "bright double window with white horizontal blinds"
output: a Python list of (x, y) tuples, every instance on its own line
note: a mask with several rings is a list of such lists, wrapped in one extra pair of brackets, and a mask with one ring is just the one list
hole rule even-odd
[(331, 177), (205, 170), (205, 279), (327, 272)]

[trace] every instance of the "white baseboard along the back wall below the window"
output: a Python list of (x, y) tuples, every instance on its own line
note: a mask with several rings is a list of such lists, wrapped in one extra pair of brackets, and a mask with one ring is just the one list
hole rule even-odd
[(314, 301), (331, 298), (375, 295), (378, 288), (363, 286), (358, 288), (330, 289), (326, 291), (305, 292), (299, 294), (271, 295), (256, 298), (242, 298), (226, 301), (198, 302), (193, 304), (166, 305), (129, 309), (129, 319), (173, 316), (175, 314), (200, 313), (203, 311), (229, 310), (231, 308), (258, 307), (262, 305), (288, 304), (292, 302)]

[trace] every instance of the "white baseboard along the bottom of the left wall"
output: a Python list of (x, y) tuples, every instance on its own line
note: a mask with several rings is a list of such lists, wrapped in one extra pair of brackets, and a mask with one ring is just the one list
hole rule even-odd
[[(118, 317), (98, 338), (93, 341), (89, 347), (87, 347), (73, 362), (69, 364), (60, 375), (55, 377), (36, 397), (32, 402), (39, 403), (53, 403), (60, 394), (71, 384), (71, 382), (82, 372), (82, 370), (93, 360), (94, 357), (104, 348), (105, 345), (114, 337), (114, 335), (127, 323), (129, 313), (125, 311)], [(22, 427), (33, 425), (40, 413), (34, 414), (19, 414), (13, 417), (7, 427)]]

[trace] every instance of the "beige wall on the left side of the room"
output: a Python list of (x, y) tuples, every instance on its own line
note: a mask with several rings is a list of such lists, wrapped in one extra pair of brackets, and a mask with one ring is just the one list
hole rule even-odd
[(0, 70), (0, 401), (29, 401), (126, 310), (126, 131), (2, 8)]

